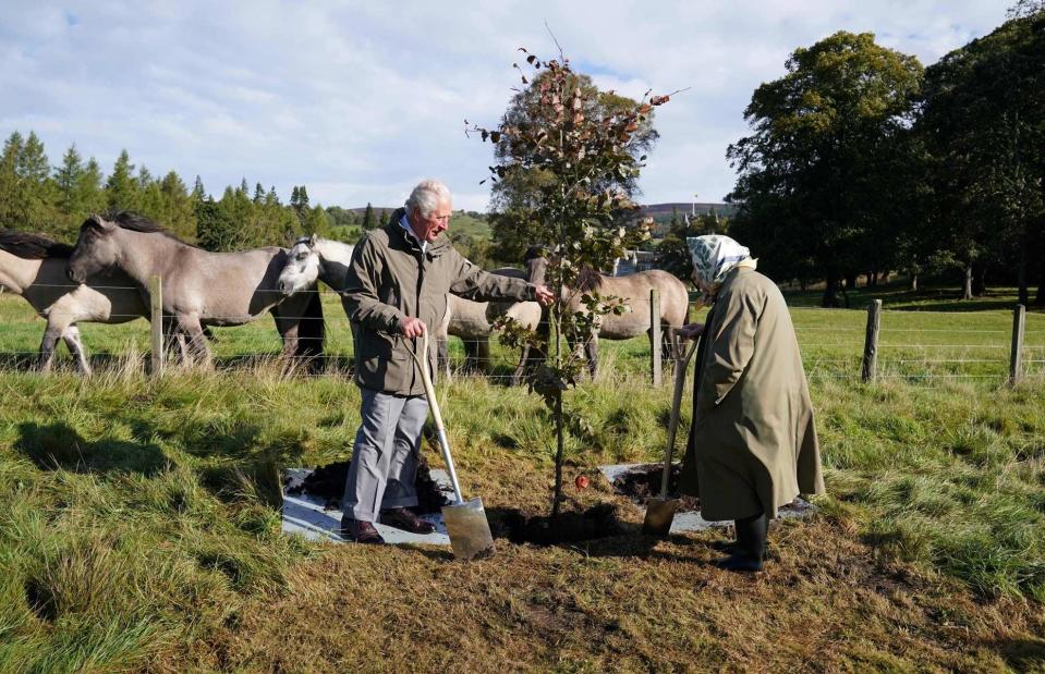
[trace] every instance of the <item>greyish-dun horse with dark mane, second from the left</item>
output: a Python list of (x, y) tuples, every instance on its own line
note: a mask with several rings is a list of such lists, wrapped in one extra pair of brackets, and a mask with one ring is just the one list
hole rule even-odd
[(285, 248), (268, 246), (210, 253), (187, 244), (163, 226), (133, 213), (112, 220), (90, 216), (69, 257), (66, 272), (78, 283), (118, 270), (130, 277), (146, 301), (148, 281), (163, 281), (163, 331), (183, 334), (191, 359), (210, 366), (207, 327), (242, 326), (268, 311), (290, 363), (318, 363), (323, 354), (323, 306), (318, 293), (289, 296), (276, 285), (287, 264)]

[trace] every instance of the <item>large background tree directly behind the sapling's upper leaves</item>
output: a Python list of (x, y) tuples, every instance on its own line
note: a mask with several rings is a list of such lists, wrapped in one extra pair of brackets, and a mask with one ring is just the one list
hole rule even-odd
[[(540, 101), (548, 90), (550, 81), (561, 76), (562, 95), (570, 100), (580, 101), (580, 112), (588, 120), (600, 120), (615, 115), (628, 114), (637, 106), (637, 101), (620, 96), (615, 91), (603, 91), (592, 82), (588, 75), (576, 73), (570, 69), (561, 73), (543, 70), (535, 73), (532, 81), (522, 78), (522, 88), (512, 97), (508, 109), (501, 119), (501, 126), (527, 132), (538, 127), (546, 120), (542, 119)], [(653, 126), (654, 113), (649, 112), (637, 122), (639, 127), (629, 134), (628, 142), (622, 149), (631, 160), (646, 154), (657, 140), (657, 132)], [(513, 155), (520, 150), (508, 144), (496, 144), (494, 158), (497, 164), (505, 167), (518, 163), (525, 159)], [(490, 192), (490, 226), (493, 229), (494, 250), (497, 259), (509, 264), (518, 264), (528, 246), (543, 243), (526, 240), (521, 234), (532, 229), (533, 223), (526, 219), (532, 217), (537, 206), (539, 195), (554, 189), (560, 176), (556, 175), (546, 166), (528, 162), (526, 171), (511, 171), (498, 180)], [(593, 179), (593, 189), (619, 189), (629, 197), (639, 193), (637, 175), (628, 171), (620, 171), (611, 175), (600, 175)], [(539, 225), (538, 225), (539, 226)]]

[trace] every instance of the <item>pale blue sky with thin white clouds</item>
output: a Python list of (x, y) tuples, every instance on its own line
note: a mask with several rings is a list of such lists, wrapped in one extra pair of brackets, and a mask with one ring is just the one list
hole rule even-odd
[[(250, 2), (2, 0), (0, 136), (52, 164), (76, 144), (108, 173), (122, 149), (220, 197), (246, 179), (313, 205), (398, 206), (424, 177), (485, 210), (495, 126), (525, 47), (603, 89), (686, 89), (657, 109), (644, 204), (720, 201), (754, 89), (837, 30), (924, 65), (1000, 25), (1014, 0)], [(546, 26), (547, 24), (547, 26)]]

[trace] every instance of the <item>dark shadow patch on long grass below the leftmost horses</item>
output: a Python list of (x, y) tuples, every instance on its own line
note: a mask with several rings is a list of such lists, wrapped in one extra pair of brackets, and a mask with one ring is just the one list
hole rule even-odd
[(168, 463), (155, 444), (114, 439), (92, 442), (63, 422), (20, 424), (14, 449), (41, 470), (139, 473), (151, 477)]

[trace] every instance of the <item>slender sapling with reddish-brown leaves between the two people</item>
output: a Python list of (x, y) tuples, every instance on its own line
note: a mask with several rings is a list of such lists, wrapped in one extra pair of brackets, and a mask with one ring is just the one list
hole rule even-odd
[[(669, 96), (647, 91), (632, 105), (608, 109), (597, 105), (598, 90), (561, 52), (559, 59), (543, 61), (520, 51), (526, 65), (514, 68), (525, 95), (517, 96), (513, 113), (495, 128), (465, 121), (465, 131), (495, 146), (499, 162), (490, 167), (491, 181), (530, 186), (526, 212), (513, 219), (515, 234), (542, 245), (547, 260), (544, 282), (561, 291), (549, 307), (547, 331), (524, 330), (511, 321), (501, 326), (502, 342), (525, 342), (548, 354), (531, 371), (528, 384), (544, 399), (556, 428), (555, 522), (564, 500), (566, 433), (583, 436), (586, 427), (579, 410), (567, 414), (563, 396), (578, 383), (584, 369), (583, 346), (597, 333), (603, 317), (629, 310), (621, 298), (602, 296), (597, 286), (581, 281), (649, 236), (652, 222), (634, 217), (639, 206), (629, 195), (646, 159), (636, 147), (648, 142), (654, 108)], [(563, 348), (563, 338), (576, 346)]]

